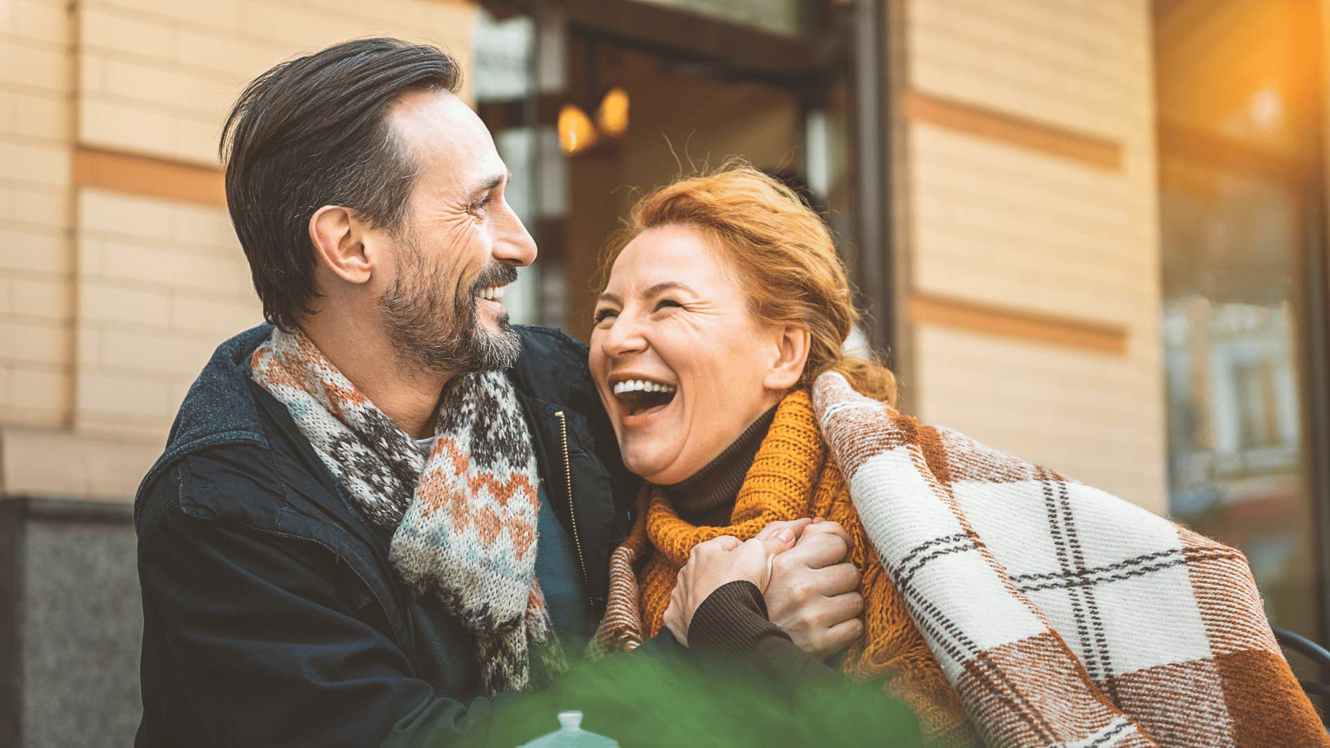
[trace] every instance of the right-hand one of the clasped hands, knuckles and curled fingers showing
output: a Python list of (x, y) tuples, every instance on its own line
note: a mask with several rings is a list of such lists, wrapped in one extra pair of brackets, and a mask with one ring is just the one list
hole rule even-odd
[[(773, 522), (762, 532), (777, 524), (785, 523)], [(850, 534), (841, 523), (809, 524), (794, 548), (775, 556), (763, 590), (771, 623), (801, 650), (819, 657), (863, 635), (863, 620), (858, 618), (863, 612), (859, 570), (845, 560), (849, 552)]]

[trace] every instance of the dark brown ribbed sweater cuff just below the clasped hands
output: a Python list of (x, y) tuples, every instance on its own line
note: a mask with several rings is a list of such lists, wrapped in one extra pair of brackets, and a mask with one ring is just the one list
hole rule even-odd
[(789, 640), (781, 627), (767, 620), (766, 600), (757, 584), (743, 580), (717, 587), (688, 624), (689, 648), (706, 648), (730, 657), (750, 657), (771, 638)]

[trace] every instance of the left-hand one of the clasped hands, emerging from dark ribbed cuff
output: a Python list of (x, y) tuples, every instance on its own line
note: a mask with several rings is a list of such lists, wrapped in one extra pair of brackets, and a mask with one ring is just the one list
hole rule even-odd
[[(693, 614), (712, 592), (730, 582), (746, 580), (765, 591), (771, 579), (773, 562), (794, 547), (797, 538), (811, 519), (773, 523), (757, 538), (743, 543), (733, 535), (721, 535), (693, 546), (688, 563), (678, 572), (674, 592), (665, 610), (665, 627), (681, 644), (688, 646), (688, 626)], [(770, 530), (770, 532), (767, 531)]]

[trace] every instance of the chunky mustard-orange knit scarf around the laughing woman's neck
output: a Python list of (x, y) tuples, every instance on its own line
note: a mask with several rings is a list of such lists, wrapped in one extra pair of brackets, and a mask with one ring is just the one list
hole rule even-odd
[(818, 433), (806, 391), (786, 395), (777, 409), (729, 526), (693, 526), (680, 518), (660, 487), (644, 488), (637, 523), (610, 556), (609, 603), (597, 651), (628, 651), (661, 630), (674, 579), (697, 543), (718, 535), (746, 540), (769, 522), (802, 516), (839, 522), (854, 539), (850, 562), (862, 571), (864, 636), (845, 654), (841, 671), (857, 680), (880, 681), (887, 693), (910, 704), (930, 745), (978, 744), (960, 700), (876, 563), (850, 490)]

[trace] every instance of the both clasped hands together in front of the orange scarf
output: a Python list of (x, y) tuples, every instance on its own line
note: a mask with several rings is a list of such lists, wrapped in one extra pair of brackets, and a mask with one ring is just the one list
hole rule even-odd
[(717, 588), (747, 580), (767, 616), (805, 652), (826, 657), (863, 634), (859, 570), (846, 560), (850, 534), (837, 522), (773, 522), (741, 542), (722, 535), (693, 547), (665, 610), (665, 626), (688, 646), (693, 612)]

